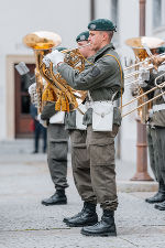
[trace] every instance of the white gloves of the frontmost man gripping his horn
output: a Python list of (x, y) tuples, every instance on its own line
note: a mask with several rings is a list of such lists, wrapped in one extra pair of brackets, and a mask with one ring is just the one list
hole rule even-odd
[(65, 57), (64, 53), (54, 50), (52, 53), (44, 56), (43, 63), (46, 65), (46, 67), (50, 66), (50, 62), (52, 62), (55, 66), (57, 66), (58, 63), (64, 62), (64, 57)]

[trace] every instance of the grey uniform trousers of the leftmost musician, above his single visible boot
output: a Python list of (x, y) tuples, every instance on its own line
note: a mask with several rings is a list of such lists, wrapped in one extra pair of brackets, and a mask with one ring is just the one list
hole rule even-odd
[(68, 132), (64, 125), (50, 123), (47, 127), (47, 163), (56, 190), (67, 184)]

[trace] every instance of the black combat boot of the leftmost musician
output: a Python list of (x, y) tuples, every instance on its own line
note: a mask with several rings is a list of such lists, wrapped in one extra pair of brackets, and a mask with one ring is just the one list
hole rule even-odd
[(52, 195), (50, 198), (43, 200), (42, 204), (45, 206), (67, 204), (67, 197), (65, 195), (65, 190), (56, 190), (55, 194)]

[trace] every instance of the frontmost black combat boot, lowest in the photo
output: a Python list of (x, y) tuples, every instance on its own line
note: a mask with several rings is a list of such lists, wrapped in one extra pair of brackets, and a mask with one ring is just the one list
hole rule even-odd
[(117, 236), (114, 212), (105, 209), (99, 223), (94, 226), (82, 227), (80, 233), (86, 236)]

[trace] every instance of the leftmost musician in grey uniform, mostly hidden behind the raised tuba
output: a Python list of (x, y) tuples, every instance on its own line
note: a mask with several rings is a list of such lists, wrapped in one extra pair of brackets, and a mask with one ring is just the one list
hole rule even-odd
[[(66, 47), (58, 47), (58, 51)], [(46, 101), (40, 116), (41, 123), (47, 123), (47, 163), (55, 193), (42, 201), (45, 206), (67, 204), (65, 188), (67, 184), (68, 131), (65, 130), (64, 112), (55, 111), (55, 103)]]

